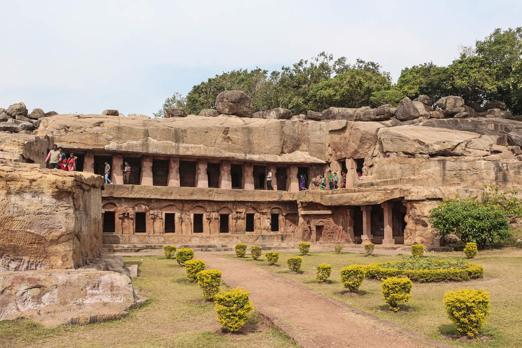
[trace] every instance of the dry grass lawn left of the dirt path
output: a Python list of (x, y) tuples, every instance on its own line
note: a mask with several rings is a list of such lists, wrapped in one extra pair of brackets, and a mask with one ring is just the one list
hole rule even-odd
[[(296, 346), (268, 328), (254, 312), (237, 334), (222, 333), (213, 303), (199, 286), (187, 283), (185, 268), (163, 257), (128, 257), (138, 263), (133, 283), (148, 292), (149, 301), (121, 320), (87, 326), (45, 329), (26, 319), (0, 322), (0, 346), (77, 347), (288, 347)], [(224, 286), (222, 290), (226, 290)]]

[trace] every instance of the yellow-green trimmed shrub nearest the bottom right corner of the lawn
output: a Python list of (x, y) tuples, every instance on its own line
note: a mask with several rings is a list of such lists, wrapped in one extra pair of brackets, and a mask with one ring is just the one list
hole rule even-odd
[(486, 323), (490, 313), (489, 292), (484, 290), (457, 290), (444, 294), (444, 306), (457, 331), (475, 337)]

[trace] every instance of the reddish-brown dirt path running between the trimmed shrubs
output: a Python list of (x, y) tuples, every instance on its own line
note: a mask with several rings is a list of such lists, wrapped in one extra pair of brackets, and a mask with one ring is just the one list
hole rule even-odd
[(256, 309), (304, 347), (447, 347), (247, 262), (208, 253), (196, 257), (221, 270), (230, 287), (251, 291)]

